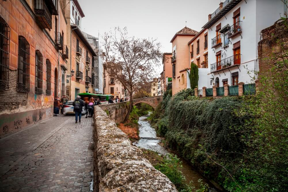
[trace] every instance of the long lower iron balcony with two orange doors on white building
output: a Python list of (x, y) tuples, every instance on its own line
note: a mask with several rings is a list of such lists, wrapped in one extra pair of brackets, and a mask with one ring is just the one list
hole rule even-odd
[(228, 69), (233, 66), (238, 66), (240, 64), (241, 64), (241, 54), (233, 55), (219, 62), (211, 64), (211, 73), (215, 73), (223, 69)]

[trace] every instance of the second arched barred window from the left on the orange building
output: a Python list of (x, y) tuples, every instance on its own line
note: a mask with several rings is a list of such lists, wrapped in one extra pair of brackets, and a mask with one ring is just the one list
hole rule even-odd
[(18, 91), (30, 91), (30, 45), (28, 41), (19, 36), (18, 43)]

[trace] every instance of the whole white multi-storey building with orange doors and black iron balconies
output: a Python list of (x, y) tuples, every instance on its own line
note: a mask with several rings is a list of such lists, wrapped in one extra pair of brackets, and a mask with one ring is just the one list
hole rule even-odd
[[(251, 83), (258, 71), (260, 31), (285, 17), (281, 0), (226, 0), (203, 26), (208, 29), (207, 88)], [(200, 80), (200, 79), (199, 79)], [(203, 83), (200, 83), (203, 84)], [(202, 88), (202, 87), (201, 87)]]

